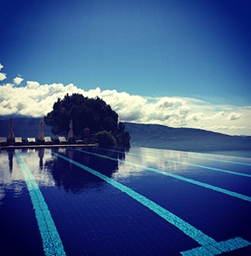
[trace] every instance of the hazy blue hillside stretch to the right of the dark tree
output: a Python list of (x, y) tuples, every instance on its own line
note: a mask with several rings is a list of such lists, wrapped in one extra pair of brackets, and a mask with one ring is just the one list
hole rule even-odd
[(251, 136), (229, 136), (195, 128), (170, 128), (158, 124), (125, 123), (131, 146), (182, 151), (251, 150)]

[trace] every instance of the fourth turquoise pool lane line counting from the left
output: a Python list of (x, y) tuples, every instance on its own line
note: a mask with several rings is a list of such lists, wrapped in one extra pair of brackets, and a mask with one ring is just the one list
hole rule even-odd
[[(103, 149), (103, 148), (100, 148), (100, 149), (108, 150), (108, 151), (112, 151), (112, 152), (121, 152), (119, 150), (114, 150), (114, 149)], [(228, 174), (231, 174), (231, 175), (240, 175), (240, 176), (245, 176), (245, 177), (251, 178), (251, 175), (243, 174), (241, 172), (236, 172), (236, 171), (233, 171), (233, 170), (223, 170), (223, 169), (218, 169), (218, 168), (204, 166), (204, 165), (189, 164), (189, 163), (179, 162), (179, 161), (175, 161), (175, 160), (171, 160), (171, 159), (162, 159), (162, 158), (155, 157), (155, 156), (150, 156), (150, 155), (146, 156), (144, 154), (136, 154), (136, 153), (131, 153), (131, 152), (128, 152), (127, 154), (142, 156), (142, 157), (151, 158), (151, 159), (160, 159), (162, 161), (171, 162), (171, 163), (175, 163), (175, 164), (190, 165), (190, 166), (193, 166), (193, 167), (199, 167), (199, 168), (203, 168), (203, 169), (207, 169), (207, 170), (216, 170), (216, 171), (225, 172), (225, 173), (228, 173)]]

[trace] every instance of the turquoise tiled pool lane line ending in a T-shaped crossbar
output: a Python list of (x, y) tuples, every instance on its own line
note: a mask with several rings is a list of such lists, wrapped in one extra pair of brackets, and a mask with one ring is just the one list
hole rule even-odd
[[(115, 188), (119, 189), (120, 191), (124, 192), (128, 196), (131, 196), (133, 199), (136, 201), (140, 202), (143, 206), (146, 206), (148, 209), (151, 211), (155, 212), (157, 215), (165, 219), (167, 222), (171, 223), (178, 229), (180, 229), (182, 232), (184, 232), (188, 237), (192, 238), (195, 240), (197, 243), (202, 245), (201, 247), (198, 248), (193, 248), (192, 250), (188, 250), (186, 252), (181, 252), (182, 255), (199, 255), (197, 252), (203, 252), (203, 255), (218, 255), (220, 253), (225, 253), (225, 252), (230, 252), (238, 248), (243, 248), (248, 245), (251, 245), (247, 240), (244, 240), (243, 238), (233, 238), (229, 239), (223, 242), (217, 242), (213, 238), (208, 237), (205, 233), (202, 231), (198, 230), (196, 227), (193, 227), (191, 224), (188, 222), (185, 222), (182, 220), (182, 218), (177, 217), (175, 214), (172, 212), (169, 212), (165, 208), (159, 206), (156, 204), (154, 201), (151, 201), (150, 199), (146, 198), (146, 196), (142, 196), (141, 194), (137, 193), (136, 191), (131, 190), (131, 188), (122, 185), (120, 182), (115, 181), (106, 175), (100, 174), (100, 172), (91, 169), (90, 167), (86, 165), (82, 165), (77, 161), (74, 161), (73, 159), (69, 159), (65, 157), (62, 154), (55, 153), (52, 150), (45, 149), (51, 154), (57, 155), (59, 158), (64, 159), (68, 161), (69, 163), (72, 163), (79, 168), (86, 170), (90, 172), (92, 175), (95, 175), (99, 177), (101, 180), (105, 180), (107, 183), (110, 185), (113, 185)], [(192, 253), (191, 253), (192, 251)], [(200, 254), (201, 255), (201, 254)]]

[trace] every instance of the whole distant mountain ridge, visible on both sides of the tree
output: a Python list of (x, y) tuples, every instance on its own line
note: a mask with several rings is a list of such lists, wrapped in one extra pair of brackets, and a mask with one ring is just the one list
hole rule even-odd
[[(41, 118), (13, 118), (17, 137), (38, 137)], [(0, 117), (0, 137), (8, 137), (9, 118)], [(251, 150), (251, 136), (230, 136), (195, 128), (171, 128), (158, 124), (125, 123), (131, 146), (182, 151)], [(56, 137), (44, 123), (44, 135)]]

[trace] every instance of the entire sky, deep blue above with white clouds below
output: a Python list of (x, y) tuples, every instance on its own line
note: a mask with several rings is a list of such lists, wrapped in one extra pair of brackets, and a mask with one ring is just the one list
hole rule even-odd
[(0, 2), (0, 116), (101, 97), (120, 121), (251, 135), (251, 2)]

